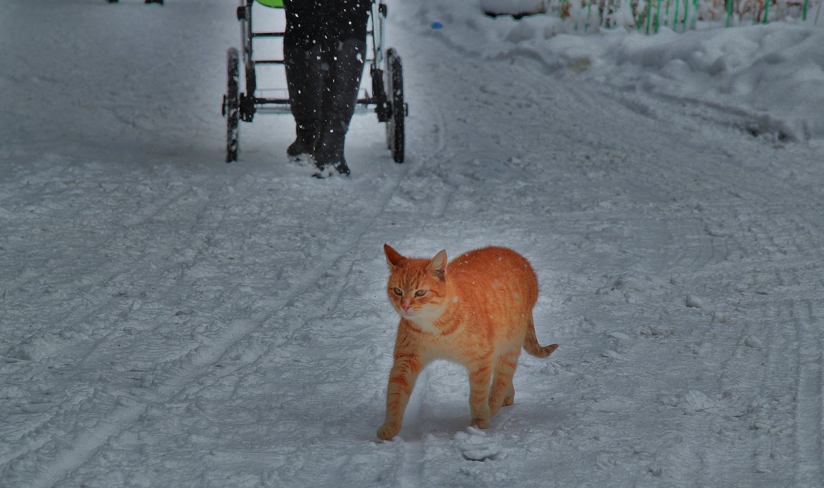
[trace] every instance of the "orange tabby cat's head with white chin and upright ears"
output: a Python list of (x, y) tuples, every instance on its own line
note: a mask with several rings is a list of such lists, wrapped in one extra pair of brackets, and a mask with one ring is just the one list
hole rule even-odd
[(431, 260), (410, 259), (384, 244), (389, 281), (386, 293), (398, 315), (431, 325), (447, 309), (447, 251)]

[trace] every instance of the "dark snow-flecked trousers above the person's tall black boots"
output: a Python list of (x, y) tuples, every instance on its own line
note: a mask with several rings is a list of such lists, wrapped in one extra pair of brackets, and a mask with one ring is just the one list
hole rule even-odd
[(311, 49), (325, 41), (366, 40), (372, 0), (284, 0), (283, 42)]

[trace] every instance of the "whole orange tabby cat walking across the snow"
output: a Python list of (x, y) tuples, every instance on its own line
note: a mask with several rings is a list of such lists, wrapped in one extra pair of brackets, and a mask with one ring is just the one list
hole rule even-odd
[(521, 348), (539, 358), (558, 348), (541, 347), (535, 336), (535, 271), (505, 247), (470, 251), (448, 265), (446, 251), (426, 260), (406, 258), (386, 244), (383, 250), (391, 271), (386, 292), (400, 323), (386, 420), (377, 436), (391, 439), (398, 433), (415, 379), (434, 359), (466, 366), (472, 425), (488, 428), (501, 406), (513, 404)]

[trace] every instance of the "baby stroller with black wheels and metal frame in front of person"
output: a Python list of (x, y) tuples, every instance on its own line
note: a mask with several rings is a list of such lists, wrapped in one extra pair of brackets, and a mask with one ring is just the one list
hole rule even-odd
[[(257, 4), (257, 5), (255, 5)], [(262, 96), (257, 86), (255, 69), (267, 65), (283, 65), (283, 59), (253, 58), (254, 41), (283, 39), (283, 31), (255, 31), (252, 17), (260, 8), (283, 8), (283, 0), (241, 0), (237, 7), (237, 20), (241, 22), (243, 44), (243, 71), (246, 75), (246, 92), (241, 92), (241, 56), (236, 48), (227, 52), (227, 92), (223, 96), (222, 115), (226, 118), (226, 162), (237, 161), (240, 120), (251, 122), (256, 113), (291, 114), (288, 96)], [(265, 13), (265, 12), (259, 12)], [(386, 148), (395, 162), (404, 162), (404, 118), (409, 107), (404, 101), (403, 65), (395, 49), (384, 50), (384, 26), (386, 4), (372, 2), (368, 23), (367, 63), (372, 78), (372, 93), (361, 89), (355, 113), (374, 111), (378, 122), (386, 124)], [(369, 49), (371, 46), (371, 50)], [(281, 92), (285, 90), (281, 89)]]

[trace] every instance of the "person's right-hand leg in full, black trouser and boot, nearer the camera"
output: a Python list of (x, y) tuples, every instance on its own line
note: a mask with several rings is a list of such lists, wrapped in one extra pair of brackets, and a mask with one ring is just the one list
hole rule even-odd
[(369, 0), (335, 0), (325, 10), (321, 129), (315, 148), (319, 176), (334, 168), (349, 175), (344, 139), (358, 98), (366, 57)]

